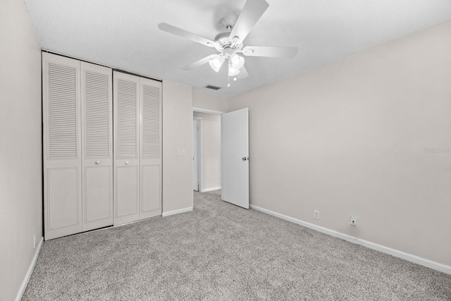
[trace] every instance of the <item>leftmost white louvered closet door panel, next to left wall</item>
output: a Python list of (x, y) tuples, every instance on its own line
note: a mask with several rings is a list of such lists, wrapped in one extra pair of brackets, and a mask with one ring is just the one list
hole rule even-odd
[(44, 238), (82, 231), (80, 62), (42, 54)]

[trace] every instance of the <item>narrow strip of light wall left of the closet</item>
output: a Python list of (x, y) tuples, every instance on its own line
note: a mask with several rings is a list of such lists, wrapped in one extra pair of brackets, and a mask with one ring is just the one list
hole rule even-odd
[(0, 300), (14, 300), (42, 238), (41, 51), (23, 1), (2, 1), (0, 37)]

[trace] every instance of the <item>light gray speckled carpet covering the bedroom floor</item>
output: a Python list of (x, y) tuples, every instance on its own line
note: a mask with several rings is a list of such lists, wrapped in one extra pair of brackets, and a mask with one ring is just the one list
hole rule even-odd
[(23, 300), (451, 300), (451, 275), (194, 193), (194, 211), (49, 240)]

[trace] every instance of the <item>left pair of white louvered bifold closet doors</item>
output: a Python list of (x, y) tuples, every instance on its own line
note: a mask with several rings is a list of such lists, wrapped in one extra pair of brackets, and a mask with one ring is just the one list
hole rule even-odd
[(42, 54), (44, 238), (113, 224), (112, 70)]

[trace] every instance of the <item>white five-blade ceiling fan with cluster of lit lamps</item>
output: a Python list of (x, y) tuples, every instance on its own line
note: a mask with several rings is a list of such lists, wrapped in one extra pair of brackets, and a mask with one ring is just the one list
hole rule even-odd
[[(247, 78), (249, 74), (245, 68), (245, 59), (239, 54), (245, 56), (268, 56), (273, 58), (292, 58), (297, 54), (297, 47), (270, 47), (270, 46), (246, 46), (243, 47), (243, 40), (254, 27), (255, 23), (261, 18), (268, 8), (269, 4), (265, 0), (247, 0), (242, 8), (240, 16), (226, 16), (221, 19), (226, 27), (225, 32), (220, 32), (214, 38), (206, 39), (187, 32), (179, 27), (169, 25), (168, 23), (159, 23), (160, 30), (191, 39), (194, 42), (205, 46), (215, 48), (219, 54), (206, 56), (204, 59), (195, 61), (190, 65), (183, 67), (183, 70), (192, 70), (199, 66), (209, 63), (211, 68), (216, 72), (219, 71), (223, 63), (228, 61), (228, 76), (233, 76), (233, 80), (237, 78)], [(228, 84), (230, 86), (230, 83)]]

